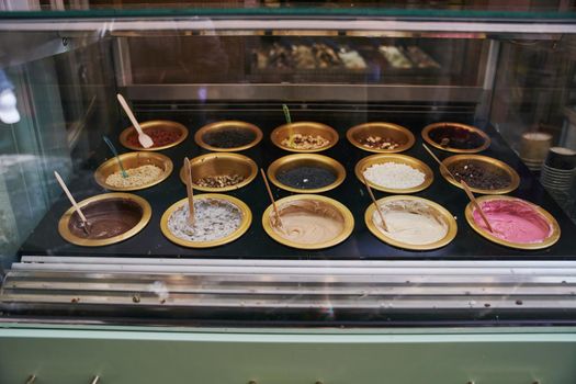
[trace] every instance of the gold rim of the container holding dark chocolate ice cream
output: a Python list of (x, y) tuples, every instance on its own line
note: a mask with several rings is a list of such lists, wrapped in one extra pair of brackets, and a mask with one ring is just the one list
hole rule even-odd
[[(125, 199), (131, 200), (132, 202), (136, 203), (142, 208), (142, 216), (139, 222), (132, 227), (131, 229), (126, 230), (125, 233), (113, 236), (106, 239), (89, 239), (84, 237), (78, 237), (74, 235), (70, 231), (69, 223), (72, 214), (76, 212), (75, 207), (70, 207), (68, 211), (64, 213), (64, 215), (60, 217), (60, 221), (58, 222), (58, 233), (60, 236), (68, 242), (71, 242), (77, 246), (81, 247), (102, 247), (102, 246), (109, 246), (112, 244), (124, 241), (134, 235), (138, 234), (146, 225), (150, 222), (150, 217), (153, 215), (153, 208), (150, 204), (144, 200), (143, 197), (132, 194), (132, 193), (124, 193), (124, 192), (111, 192), (111, 193), (103, 193), (98, 194), (92, 197), (88, 197), (82, 200), (78, 203), (78, 206), (80, 208), (92, 204), (97, 202), (101, 202), (109, 199)], [(90, 219), (90, 218), (89, 218)]]

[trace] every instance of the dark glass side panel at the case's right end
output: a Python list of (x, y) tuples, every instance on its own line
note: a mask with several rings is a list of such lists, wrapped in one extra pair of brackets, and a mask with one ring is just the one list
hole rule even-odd
[[(557, 202), (575, 218), (573, 188), (555, 188), (542, 168), (544, 154), (534, 153), (529, 138), (550, 137), (552, 147), (576, 148), (572, 100), (574, 87), (574, 36), (561, 41), (502, 42), (493, 101), (493, 122)], [(535, 135), (535, 136), (534, 136)], [(523, 138), (522, 138), (523, 137)], [(544, 174), (542, 174), (544, 173)]]

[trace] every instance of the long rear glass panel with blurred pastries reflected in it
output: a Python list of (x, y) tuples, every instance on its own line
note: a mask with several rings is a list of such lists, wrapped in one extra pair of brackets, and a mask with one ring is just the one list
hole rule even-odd
[(482, 76), (483, 49), (487, 48), (484, 39), (329, 36), (158, 36), (128, 37), (127, 42), (135, 84), (331, 82), (474, 87)]

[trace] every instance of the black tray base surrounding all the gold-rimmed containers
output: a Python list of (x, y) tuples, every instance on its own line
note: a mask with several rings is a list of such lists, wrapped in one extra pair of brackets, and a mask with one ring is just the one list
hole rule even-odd
[[(212, 249), (188, 249), (170, 242), (160, 231), (160, 217), (162, 213), (176, 201), (185, 197), (185, 188), (180, 182), (178, 171), (185, 156), (189, 158), (206, 153), (199, 148), (193, 140), (193, 135), (204, 124), (222, 120), (244, 120), (258, 125), (264, 133), (264, 139), (250, 150), (244, 151), (251, 157), (259, 167), (267, 168), (279, 157), (289, 155), (274, 147), (270, 139), (270, 132), (278, 125), (283, 124), (283, 114), (280, 105), (272, 110), (248, 110), (228, 109), (203, 109), (201, 111), (167, 111), (167, 112), (142, 112), (138, 113), (142, 121), (145, 120), (173, 120), (183, 123), (189, 129), (190, 135), (184, 143), (176, 148), (163, 150), (162, 154), (169, 156), (174, 162), (174, 172), (170, 178), (159, 185), (148, 190), (136, 191), (146, 199), (153, 207), (153, 217), (148, 226), (126, 241), (99, 248), (78, 247), (66, 242), (58, 234), (57, 224), (63, 213), (68, 210), (69, 203), (63, 195), (45, 215), (35, 230), (30, 235), (20, 249), (20, 255), (54, 255), (54, 256), (90, 256), (90, 257), (162, 257), (162, 258), (246, 258), (246, 259), (370, 259), (370, 260), (392, 260), (392, 259), (462, 259), (462, 260), (529, 260), (529, 259), (576, 259), (576, 226), (566, 216), (562, 208), (545, 192), (532, 173), (523, 166), (516, 154), (504, 142), (501, 136), (490, 126), (483, 127), (492, 137), (490, 147), (482, 155), (498, 158), (512, 168), (521, 177), (518, 190), (511, 193), (513, 196), (526, 199), (547, 210), (561, 226), (562, 236), (560, 241), (544, 250), (523, 251), (506, 248), (493, 244), (478, 236), (466, 223), (464, 218), (464, 207), (467, 199), (463, 191), (448, 183), (438, 170), (438, 166), (430, 156), (423, 150), (420, 131), (429, 123), (437, 121), (458, 121), (474, 124), (467, 114), (440, 114), (440, 113), (389, 113), (365, 109), (339, 109), (330, 110), (306, 110), (293, 109), (294, 121), (316, 121), (326, 123), (335, 127), (340, 134), (339, 143), (323, 155), (334, 157), (340, 161), (347, 170), (346, 181), (337, 189), (325, 193), (325, 195), (336, 199), (347, 205), (352, 212), (355, 227), (352, 235), (342, 244), (324, 250), (297, 250), (285, 247), (272, 240), (263, 231), (261, 225), (262, 212), (269, 205), (264, 185), (261, 178), (257, 178), (249, 185), (230, 192), (229, 194), (245, 201), (252, 210), (253, 221), (250, 229), (238, 240)], [(391, 247), (376, 239), (364, 224), (364, 211), (370, 205), (370, 199), (365, 193), (363, 184), (353, 173), (354, 165), (362, 157), (370, 153), (353, 147), (346, 139), (346, 131), (363, 122), (387, 121), (404, 125), (413, 131), (416, 136), (416, 145), (404, 153), (414, 156), (434, 170), (434, 182), (432, 185), (415, 195), (432, 200), (448, 208), (458, 222), (458, 236), (448, 246), (432, 251), (408, 251)], [(120, 122), (115, 131), (115, 140), (118, 148), (117, 135), (125, 126), (126, 121)], [(113, 136), (113, 135), (111, 135)], [(436, 150), (440, 158), (450, 156), (449, 153)], [(104, 145), (100, 146), (94, 156), (77, 171), (77, 177), (70, 183), (72, 193), (78, 201), (88, 196), (105, 193), (93, 179), (93, 170), (110, 157)], [(290, 192), (282, 191), (272, 185), (274, 195), (280, 199), (290, 195)], [(376, 192), (376, 199), (386, 195)]]

